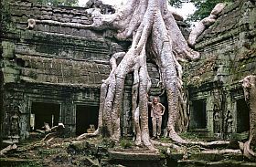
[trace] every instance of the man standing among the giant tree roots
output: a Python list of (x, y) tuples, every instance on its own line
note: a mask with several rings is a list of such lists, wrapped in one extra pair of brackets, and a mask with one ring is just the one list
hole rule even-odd
[(153, 138), (160, 139), (161, 126), (162, 126), (162, 116), (165, 113), (165, 106), (161, 104), (157, 97), (153, 99), (151, 103), (151, 118), (153, 125)]

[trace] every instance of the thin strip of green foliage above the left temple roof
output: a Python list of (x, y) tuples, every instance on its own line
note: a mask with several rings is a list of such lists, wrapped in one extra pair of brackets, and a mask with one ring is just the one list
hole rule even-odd
[(79, 0), (36, 0), (41, 5), (69, 5), (76, 6), (79, 4)]

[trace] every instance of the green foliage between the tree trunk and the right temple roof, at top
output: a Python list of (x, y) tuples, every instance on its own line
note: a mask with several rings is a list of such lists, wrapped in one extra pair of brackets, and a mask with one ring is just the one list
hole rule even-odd
[(190, 0), (193, 3), (197, 10), (194, 14), (187, 17), (187, 21), (198, 21), (207, 16), (209, 16), (211, 10), (215, 5), (219, 3), (231, 3), (233, 0)]

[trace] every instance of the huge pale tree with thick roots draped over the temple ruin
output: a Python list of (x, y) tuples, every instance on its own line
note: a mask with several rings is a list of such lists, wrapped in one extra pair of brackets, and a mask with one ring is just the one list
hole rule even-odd
[[(217, 5), (211, 16), (203, 20), (204, 26), (194, 30), (193, 37), (197, 37), (206, 25), (213, 24), (223, 8), (223, 5)], [(156, 142), (150, 140), (148, 130), (147, 93), (151, 82), (146, 59), (150, 59), (157, 65), (161, 82), (165, 87), (168, 103), (168, 137), (185, 145), (210, 146), (229, 143), (229, 141), (187, 141), (178, 135), (178, 132), (187, 129), (188, 122), (183, 100), (182, 67), (179, 62), (197, 60), (200, 56), (197, 51), (188, 47), (187, 41), (176, 25), (176, 18), (180, 16), (167, 9), (166, 0), (132, 0), (128, 1), (124, 9), (118, 13), (101, 15), (99, 10), (95, 9), (91, 16), (93, 24), (88, 27), (114, 29), (117, 31), (118, 40), (132, 40), (132, 45), (126, 53), (119, 52), (112, 55), (110, 59), (112, 71), (109, 78), (103, 80), (101, 84), (98, 130), (93, 134), (82, 134), (78, 140), (101, 134), (113, 141), (120, 141), (124, 80), (128, 73), (133, 73), (132, 113), (135, 144), (144, 144), (150, 150), (155, 150), (153, 143)], [(119, 64), (118, 58), (122, 58)], [(251, 151), (246, 149), (250, 147), (250, 143), (251, 141), (248, 141), (240, 146), (245, 147), (245, 152)], [(251, 151), (248, 154), (254, 156), (255, 153)]]

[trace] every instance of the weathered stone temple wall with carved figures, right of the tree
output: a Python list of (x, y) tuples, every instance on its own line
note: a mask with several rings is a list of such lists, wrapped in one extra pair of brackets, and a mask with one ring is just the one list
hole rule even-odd
[(246, 138), (249, 110), (240, 80), (256, 73), (255, 1), (228, 5), (197, 39), (202, 57), (184, 65), (190, 131), (221, 138)]

